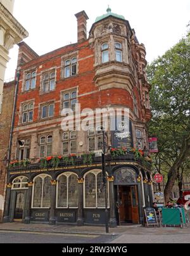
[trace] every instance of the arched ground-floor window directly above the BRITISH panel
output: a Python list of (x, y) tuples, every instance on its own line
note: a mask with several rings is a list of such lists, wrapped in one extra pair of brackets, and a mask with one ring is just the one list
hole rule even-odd
[(56, 208), (78, 208), (77, 178), (72, 172), (58, 177)]

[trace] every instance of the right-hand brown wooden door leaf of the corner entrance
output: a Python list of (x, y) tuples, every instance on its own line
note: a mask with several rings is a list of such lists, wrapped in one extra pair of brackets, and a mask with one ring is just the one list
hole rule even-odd
[(132, 223), (139, 224), (139, 206), (137, 196), (137, 186), (130, 187), (131, 207), (132, 207)]

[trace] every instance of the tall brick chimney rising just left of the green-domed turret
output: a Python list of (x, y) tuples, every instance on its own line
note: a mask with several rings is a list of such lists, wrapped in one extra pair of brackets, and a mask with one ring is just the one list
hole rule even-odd
[(78, 42), (83, 42), (87, 39), (86, 21), (89, 19), (85, 11), (75, 14), (78, 25)]

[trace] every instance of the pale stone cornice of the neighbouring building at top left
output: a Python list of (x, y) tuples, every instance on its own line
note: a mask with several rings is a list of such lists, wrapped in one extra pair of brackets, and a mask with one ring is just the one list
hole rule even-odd
[(12, 32), (15, 33), (16, 37), (19, 37), (20, 39), (24, 39), (25, 37), (28, 37), (28, 32), (25, 30), (22, 25), (14, 18), (9, 11), (4, 8), (3, 4), (0, 3), (0, 25), (2, 22), (4, 22), (6, 25), (8, 25), (9, 29), (12, 30)]

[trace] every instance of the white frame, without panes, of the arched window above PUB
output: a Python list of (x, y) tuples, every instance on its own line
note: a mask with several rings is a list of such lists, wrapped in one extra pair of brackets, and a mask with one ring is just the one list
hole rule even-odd
[[(84, 174), (84, 183), (83, 183), (83, 202), (84, 202), (84, 208), (85, 209), (105, 209), (105, 207), (97, 207), (98, 206), (98, 189), (97, 189), (97, 176), (99, 173), (101, 173), (102, 170), (99, 169), (94, 169), (94, 170), (89, 170), (89, 172), (86, 172)], [(96, 177), (96, 207), (86, 207), (85, 206), (85, 177), (87, 176), (87, 174), (94, 174)], [(106, 177), (108, 177), (108, 173), (106, 172)], [(107, 193), (108, 193), (108, 208), (110, 208), (110, 184), (108, 179), (106, 179), (107, 182)]]

